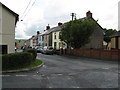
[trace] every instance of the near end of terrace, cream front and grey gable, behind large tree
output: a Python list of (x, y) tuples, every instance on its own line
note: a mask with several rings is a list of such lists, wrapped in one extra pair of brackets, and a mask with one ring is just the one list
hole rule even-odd
[[(93, 20), (97, 23), (96, 20), (93, 19), (92, 13), (88, 11), (86, 13), (86, 17), (80, 18), (82, 20), (89, 19)], [(67, 48), (67, 44), (60, 40), (60, 32), (61, 32), (62, 23), (58, 23), (58, 26), (50, 28), (48, 25), (46, 30), (41, 34), (43, 46), (52, 46), (54, 49), (65, 49)], [(90, 36), (90, 42), (85, 46), (81, 47), (82, 49), (102, 49), (103, 48), (103, 28), (97, 23), (97, 27), (94, 30), (93, 34)]]

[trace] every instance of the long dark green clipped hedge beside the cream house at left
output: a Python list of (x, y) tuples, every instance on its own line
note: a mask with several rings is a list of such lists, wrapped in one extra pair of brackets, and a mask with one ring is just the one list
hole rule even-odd
[(2, 69), (9, 70), (32, 63), (32, 54), (27, 52), (2, 55)]

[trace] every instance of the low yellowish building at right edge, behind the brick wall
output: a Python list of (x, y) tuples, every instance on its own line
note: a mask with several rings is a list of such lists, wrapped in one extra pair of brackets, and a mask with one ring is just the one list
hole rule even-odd
[(120, 31), (111, 37), (111, 49), (120, 50)]

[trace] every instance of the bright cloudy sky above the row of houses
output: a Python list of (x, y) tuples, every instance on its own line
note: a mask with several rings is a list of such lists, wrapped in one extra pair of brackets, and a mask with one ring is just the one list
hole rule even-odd
[(68, 22), (72, 19), (71, 13), (76, 13), (77, 19), (83, 18), (89, 10), (103, 28), (118, 30), (119, 0), (0, 0), (0, 2), (19, 14), (15, 28), (16, 39), (29, 39), (36, 35), (37, 31), (42, 33), (48, 24), (52, 28), (59, 22)]

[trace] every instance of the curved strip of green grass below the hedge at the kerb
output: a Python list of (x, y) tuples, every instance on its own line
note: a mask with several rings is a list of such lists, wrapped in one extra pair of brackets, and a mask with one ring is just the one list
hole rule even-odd
[(41, 64), (43, 64), (43, 62), (42, 62), (41, 60), (39, 60), (39, 59), (36, 59), (33, 63), (31, 63), (31, 64), (28, 65), (28, 66), (11, 68), (11, 69), (9, 69), (9, 70), (4, 70), (4, 71), (31, 69), (31, 68), (37, 67), (37, 66), (39, 66), (39, 65), (41, 65)]

